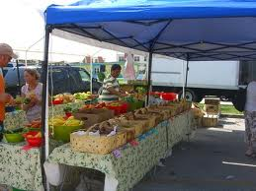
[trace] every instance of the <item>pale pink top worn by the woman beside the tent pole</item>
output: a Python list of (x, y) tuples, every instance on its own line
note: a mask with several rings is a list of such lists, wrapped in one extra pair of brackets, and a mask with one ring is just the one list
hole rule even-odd
[[(32, 92), (34, 92), (34, 94), (40, 99), (42, 100), (42, 96), (43, 96), (43, 84), (39, 83), (38, 86), (36, 87), (35, 90), (33, 91), (29, 91), (29, 85), (26, 84), (25, 86), (22, 87), (22, 94), (24, 94), (25, 96), (28, 96), (29, 94), (31, 94)], [(29, 110), (26, 112), (27, 114), (27, 119), (31, 122), (35, 119), (41, 119), (42, 116), (42, 105), (34, 105), (33, 107), (29, 108)]]

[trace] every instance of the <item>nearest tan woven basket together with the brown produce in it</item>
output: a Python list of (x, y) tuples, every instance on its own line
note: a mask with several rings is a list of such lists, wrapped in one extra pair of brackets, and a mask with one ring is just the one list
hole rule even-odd
[(113, 130), (110, 123), (103, 122), (90, 127), (86, 132), (72, 133), (70, 135), (71, 148), (75, 152), (109, 154), (127, 143), (127, 133), (125, 131), (111, 135)]

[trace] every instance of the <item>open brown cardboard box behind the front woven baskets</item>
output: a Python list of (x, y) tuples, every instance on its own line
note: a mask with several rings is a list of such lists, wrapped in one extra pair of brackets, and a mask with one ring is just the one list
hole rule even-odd
[(106, 121), (114, 117), (114, 111), (109, 109), (84, 109), (73, 114), (76, 119), (84, 121), (84, 127)]

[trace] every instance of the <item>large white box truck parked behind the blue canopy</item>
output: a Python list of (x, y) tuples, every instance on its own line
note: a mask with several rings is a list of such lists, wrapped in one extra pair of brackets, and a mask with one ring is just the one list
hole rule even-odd
[[(185, 96), (200, 102), (204, 96), (219, 96), (235, 102), (239, 89), (244, 89), (256, 76), (255, 61), (190, 61)], [(187, 61), (154, 56), (151, 79), (154, 92), (173, 92), (182, 96)]]

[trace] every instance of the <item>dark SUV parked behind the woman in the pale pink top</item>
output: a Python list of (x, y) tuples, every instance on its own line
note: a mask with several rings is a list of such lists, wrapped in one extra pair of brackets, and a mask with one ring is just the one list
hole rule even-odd
[[(30, 66), (28, 68), (34, 68), (38, 70), (40, 74), (42, 74), (41, 66)], [(26, 67), (19, 67), (21, 86), (25, 85), (25, 69)], [(6, 92), (12, 96), (20, 95), (17, 67), (3, 68), (3, 75), (6, 83)], [(74, 94), (80, 92), (89, 92), (90, 80), (90, 74), (83, 68), (71, 66), (53, 66), (52, 68), (49, 68), (48, 74), (49, 94), (51, 94), (51, 91), (53, 91), (53, 95), (62, 93)], [(94, 93), (97, 94), (101, 86), (101, 83), (97, 82), (96, 79), (93, 79)]]

